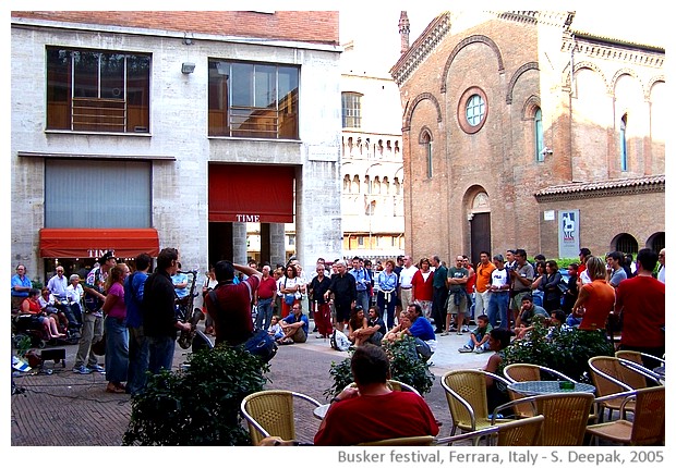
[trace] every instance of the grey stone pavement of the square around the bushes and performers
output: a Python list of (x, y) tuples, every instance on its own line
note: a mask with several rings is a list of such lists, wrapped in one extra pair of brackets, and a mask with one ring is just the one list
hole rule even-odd
[[(488, 358), (487, 355), (459, 354), (457, 349), (467, 338), (467, 333), (439, 337), (439, 346), (432, 358), (436, 381), (424, 398), (443, 422), (443, 435), (450, 431), (450, 415), (439, 377), (449, 369), (481, 367)], [(13, 378), (21, 393), (11, 396), (11, 445), (121, 445), (131, 415), (130, 396), (106, 393), (104, 374), (72, 372), (76, 345), (55, 348), (65, 349), (65, 367), (62, 362), (47, 361), (44, 367), (52, 370), (50, 374), (29, 371)], [(177, 346), (174, 368), (185, 361), (186, 354)], [(331, 349), (328, 340), (316, 340), (314, 334), (305, 344), (280, 346), (271, 361), (267, 374), (270, 382), (266, 389), (294, 390), (325, 403), (323, 393), (331, 384), (330, 364), (346, 357), (347, 353)], [(101, 357), (101, 365), (102, 360)], [(302, 409), (299, 412), (305, 414)], [(310, 409), (307, 415), (297, 423), (301, 441), (312, 441), (318, 427), (319, 421), (312, 417)]]

